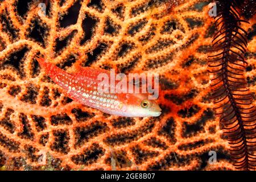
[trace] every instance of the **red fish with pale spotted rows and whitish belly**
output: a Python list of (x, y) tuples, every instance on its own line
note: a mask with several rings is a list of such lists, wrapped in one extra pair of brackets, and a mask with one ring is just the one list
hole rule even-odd
[[(68, 73), (43, 57), (36, 57), (36, 60), (64, 94), (85, 106), (120, 117), (159, 117), (161, 114), (162, 109), (155, 100), (148, 99), (147, 93), (98, 92), (101, 82), (98, 75), (104, 73), (110, 77), (106, 69), (79, 65), (74, 73)], [(132, 83), (127, 81), (129, 84)]]

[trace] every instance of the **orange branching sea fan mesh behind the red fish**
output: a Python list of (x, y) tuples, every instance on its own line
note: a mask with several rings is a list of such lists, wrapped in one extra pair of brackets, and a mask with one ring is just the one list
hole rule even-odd
[[(20, 2), (0, 1), (0, 166), (235, 169), (209, 99), (207, 50), (216, 31), (209, 1)], [(46, 16), (40, 2), (48, 2)], [(249, 32), (251, 93), (255, 21), (242, 27)], [(159, 73), (163, 113), (123, 118), (72, 101), (40, 69), (36, 55), (71, 73), (77, 65)], [(215, 164), (208, 163), (209, 151), (217, 152)]]

